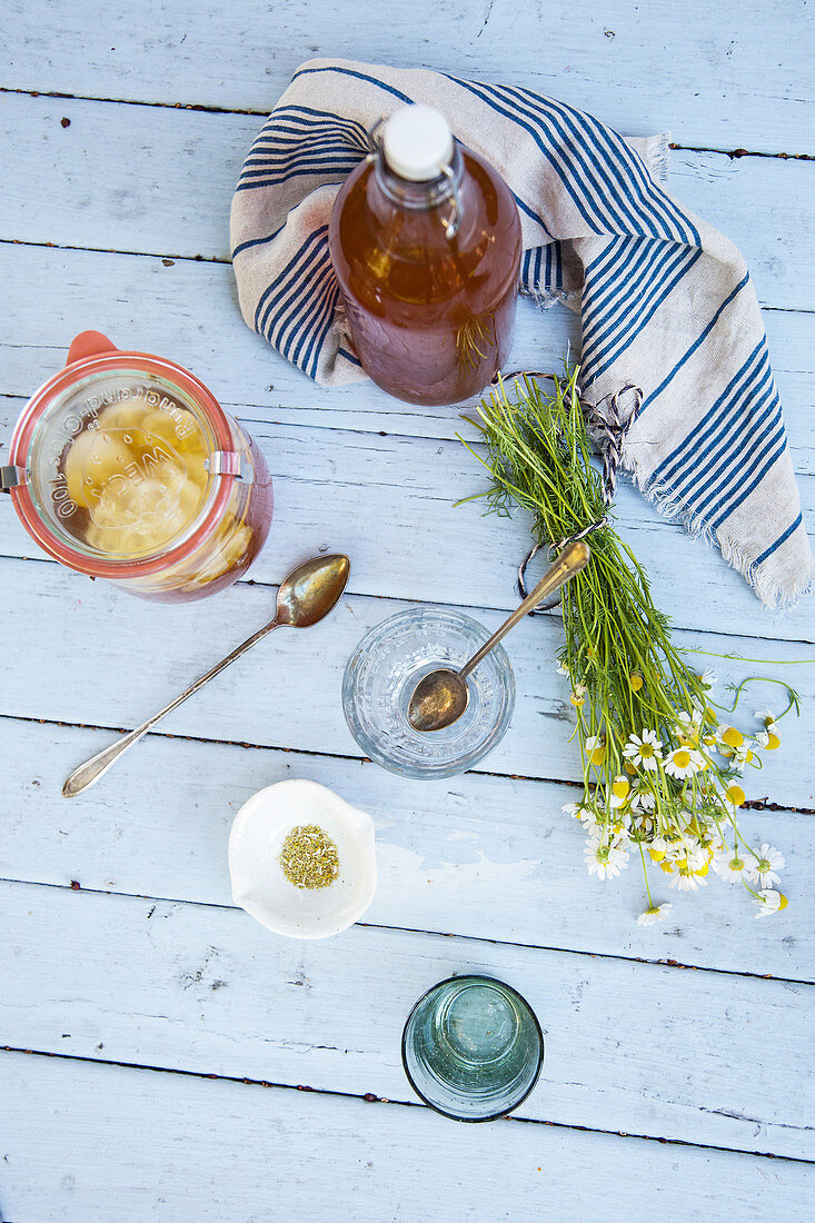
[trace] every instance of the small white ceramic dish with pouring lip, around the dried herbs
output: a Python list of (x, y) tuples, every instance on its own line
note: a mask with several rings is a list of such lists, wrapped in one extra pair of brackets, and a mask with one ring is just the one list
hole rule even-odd
[[(318, 824), (337, 845), (339, 878), (327, 888), (296, 888), (280, 870), (292, 828)], [(377, 887), (373, 821), (316, 781), (269, 785), (244, 804), (229, 837), (235, 904), (289, 938), (328, 938), (362, 916)]]

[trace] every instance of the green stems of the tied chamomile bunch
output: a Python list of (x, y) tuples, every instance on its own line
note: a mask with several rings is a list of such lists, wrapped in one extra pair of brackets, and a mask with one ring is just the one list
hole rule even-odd
[[(657, 733), (666, 758), (680, 745), (684, 731), (679, 714), (699, 714), (698, 748), (706, 768), (690, 783), (672, 778), (664, 768), (655, 773), (639, 770), (653, 795), (652, 829), (644, 833), (635, 816), (620, 808), (629, 838), (636, 839), (647, 882), (645, 848), (655, 835), (693, 849), (699, 841), (722, 835), (722, 821), (733, 827), (738, 851), (738, 823), (723, 799), (734, 777), (727, 763), (715, 758), (704, 744), (718, 725), (709, 691), (690, 665), (691, 654), (735, 657), (710, 651), (679, 651), (671, 638), (671, 624), (655, 605), (647, 575), (630, 547), (614, 528), (613, 506), (603, 501), (603, 487), (592, 461), (582, 407), (576, 391), (576, 367), (564, 377), (553, 377), (545, 390), (526, 377), (508, 386), (499, 383), (482, 399), (476, 418), (467, 418), (478, 430), (472, 444), (461, 438), (467, 451), (489, 473), (489, 488), (474, 494), (483, 500), (487, 512), (510, 514), (519, 506), (532, 516), (532, 534), (549, 544), (606, 519), (606, 525), (591, 532), (591, 560), (586, 569), (563, 589), (562, 613), (564, 647), (559, 657), (569, 668), (573, 691), (585, 686), (584, 704), (576, 707), (575, 735), (580, 746), (584, 801), (607, 830), (618, 812), (609, 808), (609, 786), (623, 769), (623, 747), (631, 734), (644, 729)], [(509, 397), (509, 394), (513, 399)], [(465, 498), (467, 500), (467, 498)], [(459, 503), (460, 504), (460, 503)], [(756, 662), (753, 659), (751, 662)], [(787, 663), (787, 665), (793, 665)], [(633, 673), (642, 678), (634, 691)], [(745, 686), (734, 689), (733, 713)], [(771, 680), (784, 687), (788, 704), (799, 712), (798, 695), (783, 680)], [(717, 706), (724, 709), (723, 706)], [(606, 755), (594, 764), (585, 751), (589, 735), (606, 739)], [(756, 766), (760, 763), (755, 752)], [(631, 777), (631, 785), (636, 783)], [(723, 840), (723, 838), (722, 838)], [(748, 846), (749, 848), (749, 846)], [(754, 852), (754, 850), (750, 850)], [(653, 905), (652, 905), (653, 907)]]

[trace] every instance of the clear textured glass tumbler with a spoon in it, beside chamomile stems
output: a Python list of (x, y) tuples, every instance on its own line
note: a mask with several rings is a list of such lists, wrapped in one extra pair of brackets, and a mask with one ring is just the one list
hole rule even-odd
[(419, 731), (408, 704), (437, 667), (463, 667), (489, 631), (450, 608), (411, 608), (376, 625), (345, 668), (343, 708), (371, 759), (392, 773), (443, 778), (472, 768), (503, 739), (515, 704), (515, 679), (502, 646), (467, 676), (470, 701), (444, 730)]

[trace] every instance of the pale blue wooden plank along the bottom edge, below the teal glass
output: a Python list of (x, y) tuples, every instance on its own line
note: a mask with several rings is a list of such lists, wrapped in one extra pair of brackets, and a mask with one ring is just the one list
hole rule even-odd
[[(10, 1219), (806, 1217), (809, 1164), (6, 1053)], [(372, 1112), (373, 1110), (373, 1112)], [(10, 1115), (9, 1113), (6, 1115)], [(100, 1158), (104, 1152), (104, 1158)], [(497, 1183), (497, 1170), (501, 1179)]]

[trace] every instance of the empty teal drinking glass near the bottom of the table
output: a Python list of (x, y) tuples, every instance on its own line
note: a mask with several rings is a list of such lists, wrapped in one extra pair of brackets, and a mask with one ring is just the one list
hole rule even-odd
[(526, 1099), (543, 1035), (521, 996), (492, 977), (450, 977), (420, 998), (401, 1037), (417, 1096), (456, 1121), (494, 1121)]

